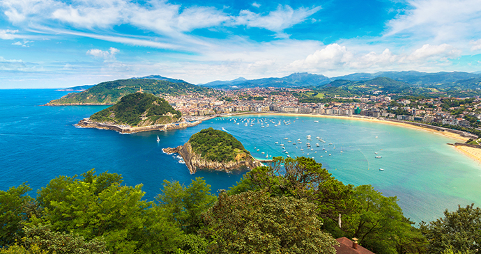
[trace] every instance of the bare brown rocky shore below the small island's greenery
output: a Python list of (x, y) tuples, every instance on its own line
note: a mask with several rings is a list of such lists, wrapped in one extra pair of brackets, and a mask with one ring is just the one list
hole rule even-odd
[(213, 169), (213, 170), (224, 170), (231, 171), (239, 168), (257, 168), (262, 166), (260, 161), (252, 158), (249, 154), (241, 155), (236, 157), (235, 161), (218, 162), (218, 161), (208, 161), (202, 159), (200, 154), (196, 154), (192, 151), (192, 146), (190, 143), (185, 143), (184, 145), (179, 145), (176, 148), (164, 148), (162, 151), (169, 154), (176, 153), (179, 154), (185, 161), (185, 165), (189, 168), (191, 174), (197, 172), (198, 169)]

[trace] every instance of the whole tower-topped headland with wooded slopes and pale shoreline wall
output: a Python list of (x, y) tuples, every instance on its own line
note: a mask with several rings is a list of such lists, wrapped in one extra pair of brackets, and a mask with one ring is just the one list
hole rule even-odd
[(112, 129), (121, 133), (178, 129), (197, 125), (183, 122), (181, 112), (166, 100), (148, 93), (125, 95), (113, 106), (77, 123), (78, 127)]

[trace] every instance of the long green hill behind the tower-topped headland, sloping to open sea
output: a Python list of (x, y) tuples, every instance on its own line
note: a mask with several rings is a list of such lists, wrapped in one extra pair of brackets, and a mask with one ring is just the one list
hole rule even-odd
[(140, 88), (144, 93), (153, 95), (185, 95), (188, 93), (211, 93), (210, 88), (203, 88), (188, 83), (172, 83), (156, 79), (119, 79), (102, 82), (82, 93), (69, 93), (58, 100), (52, 100), (47, 105), (61, 104), (115, 104), (121, 97), (137, 92)]

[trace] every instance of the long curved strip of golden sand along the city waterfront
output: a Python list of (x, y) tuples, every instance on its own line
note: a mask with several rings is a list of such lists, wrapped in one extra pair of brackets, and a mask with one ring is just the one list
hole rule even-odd
[[(397, 125), (405, 128), (411, 128), (411, 129), (419, 129), (422, 130), (423, 132), (430, 132), (432, 134), (436, 135), (441, 135), (445, 136), (448, 138), (455, 138), (457, 141), (460, 143), (465, 143), (468, 141), (469, 138), (466, 138), (464, 136), (461, 136), (457, 133), (449, 132), (449, 131), (438, 131), (436, 129), (430, 129), (428, 127), (420, 127), (417, 125), (410, 125), (408, 123), (404, 122), (393, 122), (390, 120), (379, 120), (377, 118), (361, 118), (361, 117), (349, 117), (349, 116), (328, 116), (328, 115), (309, 115), (309, 114), (294, 114), (294, 113), (243, 113), (243, 114), (249, 114), (249, 115), (261, 115), (261, 114), (268, 114), (268, 115), (277, 115), (277, 116), (307, 116), (307, 117), (312, 117), (312, 118), (341, 118), (341, 119), (346, 119), (346, 120), (360, 120), (360, 121), (367, 121), (367, 122), (377, 122), (385, 125)], [(470, 157), (471, 159), (475, 159), (481, 164), (481, 148), (470, 148), (466, 146), (452, 146), (459, 152), (462, 152), (465, 154), (467, 157)]]

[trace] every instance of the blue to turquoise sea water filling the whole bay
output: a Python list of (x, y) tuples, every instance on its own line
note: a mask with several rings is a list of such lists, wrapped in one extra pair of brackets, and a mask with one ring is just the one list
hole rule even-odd
[[(228, 189), (245, 172), (201, 171), (190, 175), (175, 154), (161, 150), (182, 145), (200, 129), (213, 127), (236, 136), (259, 159), (266, 154), (286, 156), (279, 145), (283, 143), (291, 157), (314, 157), (345, 184), (372, 184), (386, 196), (397, 196), (404, 214), (416, 222), (436, 219), (444, 209), (456, 209), (458, 204), (481, 204), (480, 164), (446, 145), (455, 140), (429, 132), (339, 118), (248, 115), (215, 118), (197, 127), (169, 132), (119, 134), (73, 126), (106, 106), (38, 106), (65, 94), (55, 90), (0, 90), (0, 189), (28, 181), (36, 190), (53, 177), (80, 174), (91, 168), (121, 173), (128, 185), (143, 184), (148, 200), (159, 193), (163, 180), (188, 184), (195, 177), (204, 177), (213, 192)], [(254, 120), (255, 125), (246, 127), (247, 119)], [(261, 128), (261, 121), (266, 126), (267, 120), (269, 127)], [(281, 125), (275, 127), (270, 121), (281, 121)], [(291, 124), (284, 125), (284, 121)], [(305, 146), (307, 135), (312, 135), (314, 150)], [(157, 136), (160, 143), (155, 141)], [(298, 138), (301, 144), (287, 142)], [(36, 195), (33, 191), (30, 194)]]

